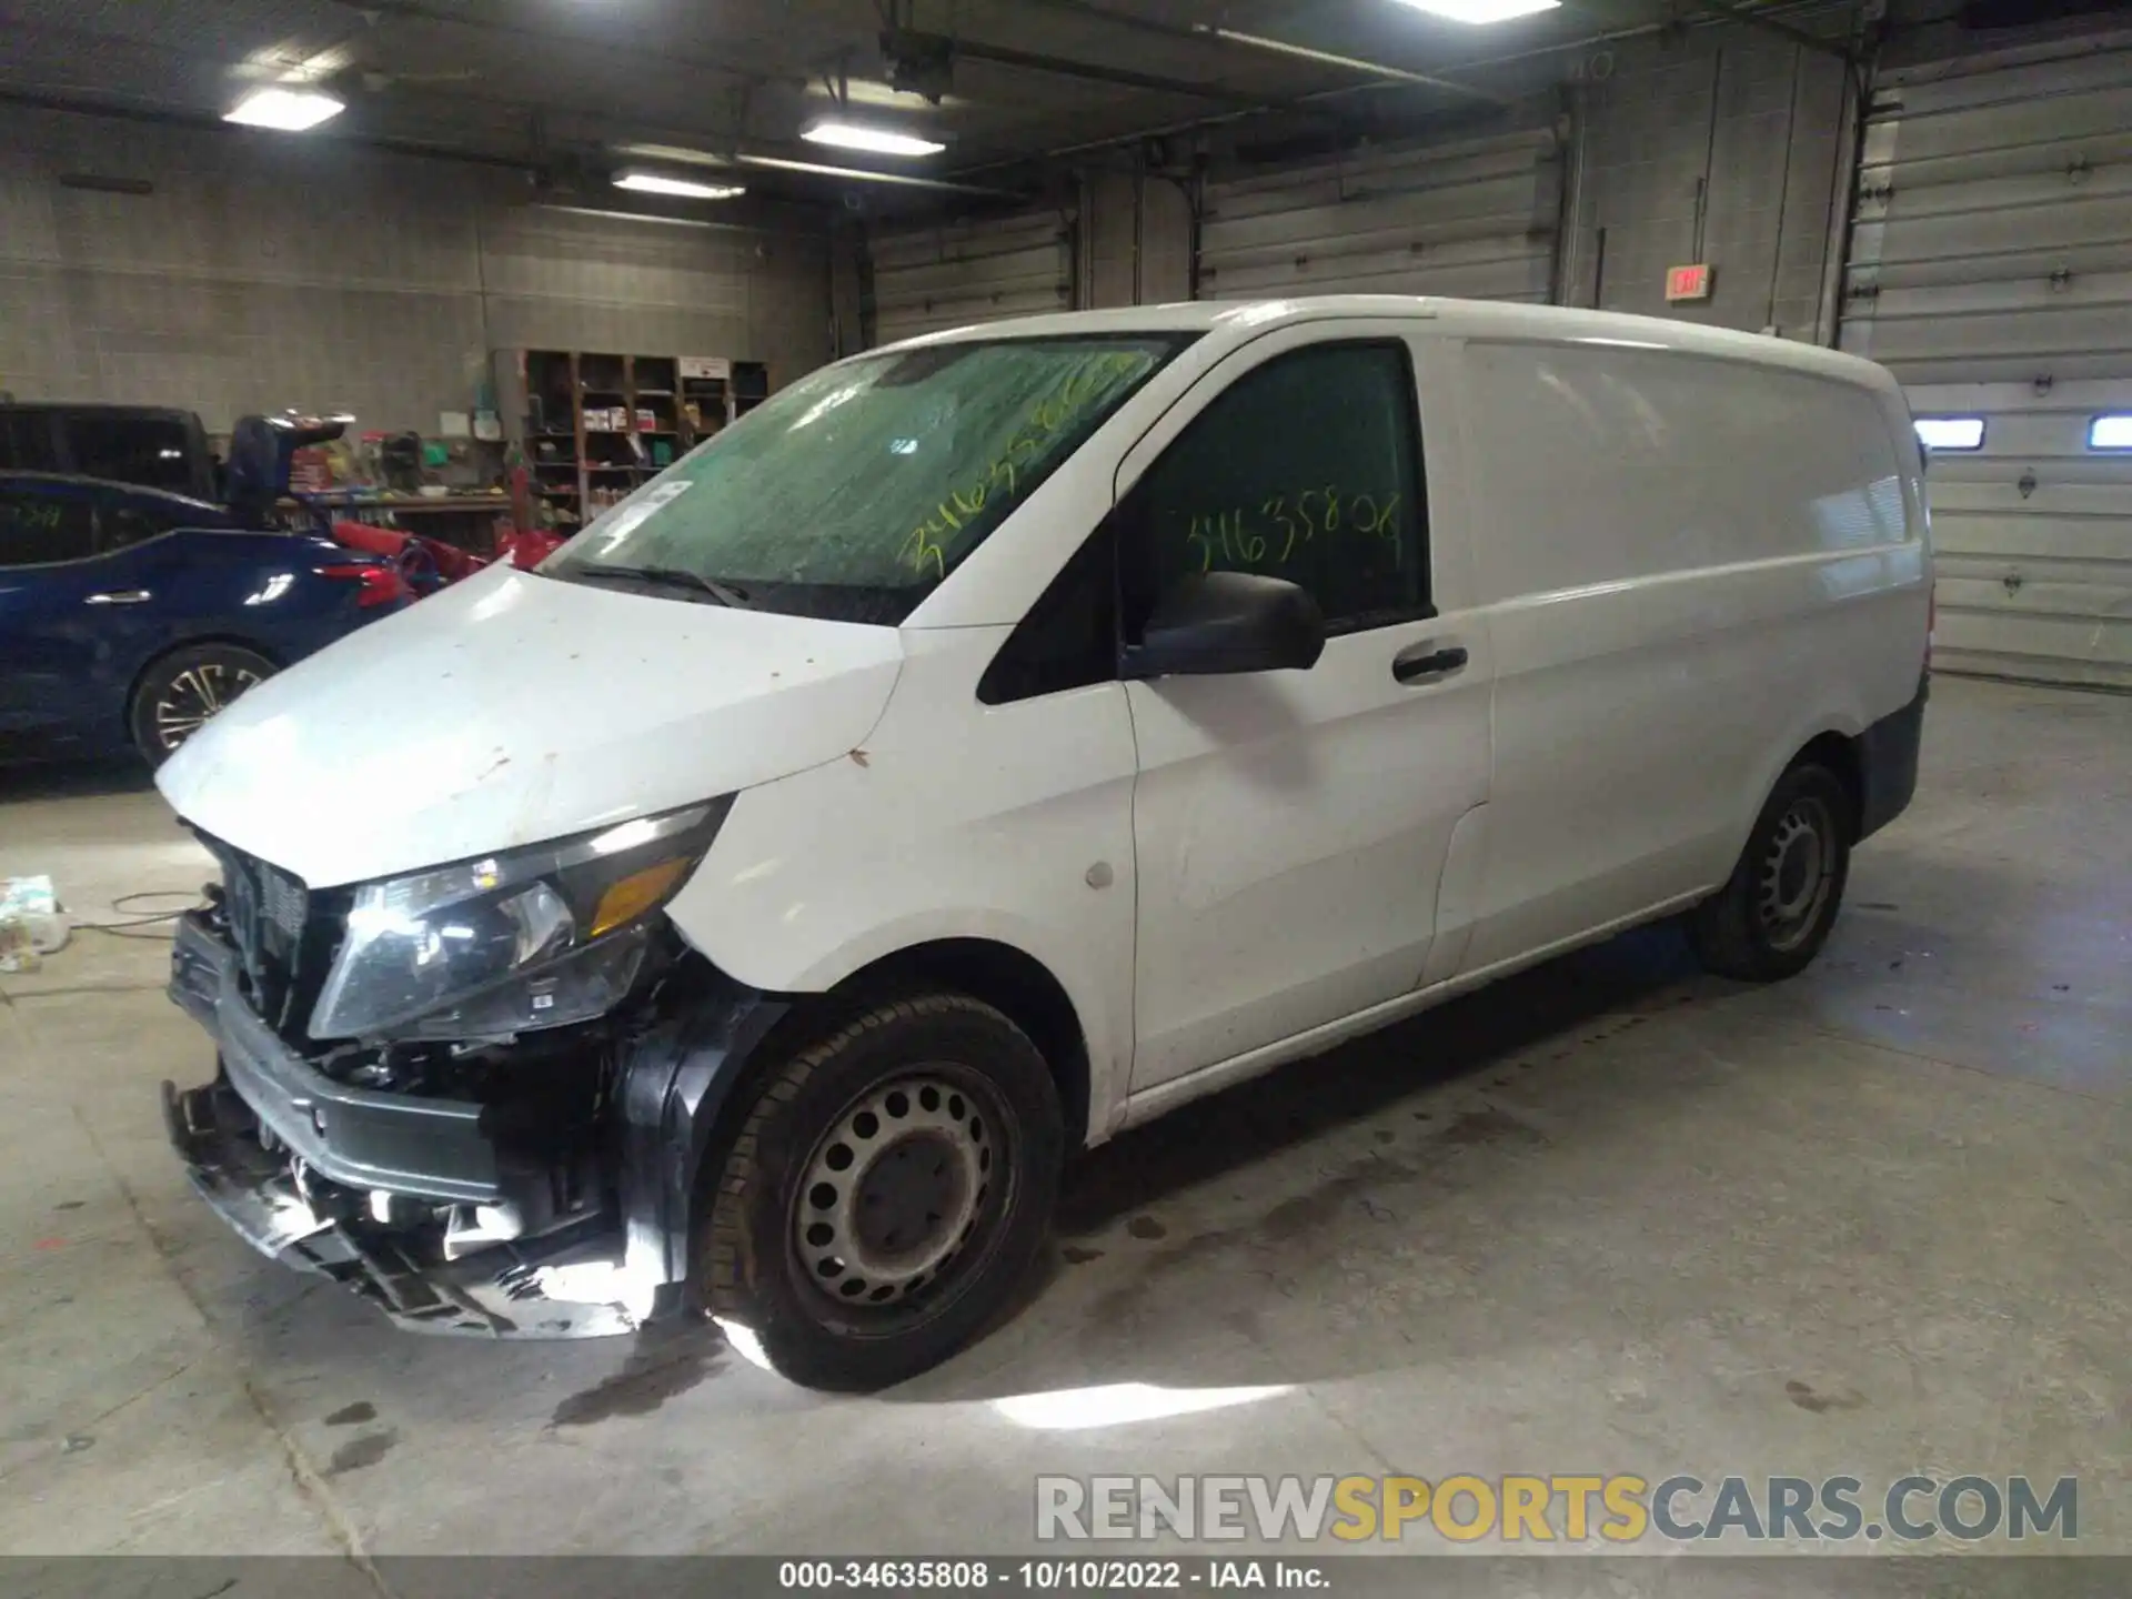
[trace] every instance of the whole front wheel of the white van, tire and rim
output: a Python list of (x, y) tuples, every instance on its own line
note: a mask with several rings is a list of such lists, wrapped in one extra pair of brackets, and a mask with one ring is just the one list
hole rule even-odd
[(1062, 1160), (1021, 1028), (964, 994), (881, 1004), (770, 1072), (704, 1173), (704, 1305), (808, 1388), (915, 1377), (1028, 1277)]

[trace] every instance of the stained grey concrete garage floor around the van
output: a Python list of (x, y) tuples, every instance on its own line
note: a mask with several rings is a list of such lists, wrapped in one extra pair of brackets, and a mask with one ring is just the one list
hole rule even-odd
[[(136, 782), (17, 774), (32, 870), (111, 917), (203, 857)], [(162, 1141), (211, 1068), (162, 966), (85, 932), (0, 976), (6, 1550), (974, 1552), (1034, 1546), (1040, 1471), (1917, 1469), (2079, 1473), (2081, 1548), (2132, 1552), (2132, 699), (1940, 680), (1812, 972), (1652, 930), (1183, 1111), (878, 1399), (704, 1335), (409, 1337), (258, 1260)], [(1126, 1382), (1277, 1392), (994, 1403)]]

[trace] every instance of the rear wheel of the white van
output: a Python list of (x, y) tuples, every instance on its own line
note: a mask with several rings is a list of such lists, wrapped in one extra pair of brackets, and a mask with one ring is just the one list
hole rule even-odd
[(1825, 765), (1776, 780), (1731, 878), (1689, 912), (1689, 942), (1718, 976), (1776, 983), (1806, 970), (1836, 925), (1857, 814)]

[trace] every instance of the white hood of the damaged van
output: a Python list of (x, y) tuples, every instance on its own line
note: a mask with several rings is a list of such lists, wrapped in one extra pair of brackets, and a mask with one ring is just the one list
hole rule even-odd
[(156, 787), (309, 887), (537, 844), (857, 748), (893, 627), (492, 567), (269, 678)]

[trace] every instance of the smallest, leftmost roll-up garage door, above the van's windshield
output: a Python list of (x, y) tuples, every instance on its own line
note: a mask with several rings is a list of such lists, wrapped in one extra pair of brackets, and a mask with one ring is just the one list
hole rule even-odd
[(1072, 309), (1072, 228), (1057, 211), (876, 235), (874, 343)]

